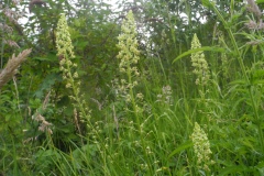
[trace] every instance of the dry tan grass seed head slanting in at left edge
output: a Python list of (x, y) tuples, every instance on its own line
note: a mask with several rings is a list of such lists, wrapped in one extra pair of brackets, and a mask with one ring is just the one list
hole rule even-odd
[(0, 73), (0, 89), (10, 79), (12, 79), (12, 77), (16, 73), (16, 69), (26, 59), (26, 56), (29, 56), (30, 53), (31, 53), (31, 48), (30, 50), (24, 50), (16, 57), (15, 57), (14, 54), (12, 55), (12, 57), (8, 61), (8, 64), (4, 67), (4, 69)]

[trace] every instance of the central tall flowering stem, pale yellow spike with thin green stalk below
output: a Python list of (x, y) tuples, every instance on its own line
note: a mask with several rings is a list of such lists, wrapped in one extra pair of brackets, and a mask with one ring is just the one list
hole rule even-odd
[[(134, 87), (138, 85), (138, 79), (140, 78), (140, 73), (136, 67), (138, 62), (140, 61), (140, 51), (138, 50), (139, 43), (136, 40), (136, 26), (135, 26), (135, 20), (133, 16), (132, 11), (130, 10), (127, 19), (124, 19), (122, 25), (121, 25), (121, 34), (118, 36), (119, 44), (118, 47), (120, 50), (118, 54), (118, 58), (120, 59), (119, 64), (119, 70), (121, 75), (123, 76), (123, 79), (121, 79), (121, 85), (119, 90), (121, 94), (123, 94), (127, 103), (131, 103), (133, 108), (133, 112), (135, 114), (135, 120), (138, 124), (138, 129), (140, 132), (141, 143), (142, 147), (144, 150), (144, 156), (145, 161), (147, 162), (147, 166), (151, 170), (151, 162), (147, 156), (147, 147), (145, 144), (145, 140), (142, 135), (142, 125), (140, 122), (140, 112), (141, 109), (136, 105), (136, 99), (142, 100), (143, 95), (138, 94), (134, 95)], [(154, 175), (154, 174), (151, 174)]]

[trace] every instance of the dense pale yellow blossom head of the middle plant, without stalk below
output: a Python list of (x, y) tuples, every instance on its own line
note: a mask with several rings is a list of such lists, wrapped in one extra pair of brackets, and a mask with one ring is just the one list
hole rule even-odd
[(134, 98), (131, 91), (138, 85), (136, 78), (140, 76), (136, 67), (140, 51), (138, 50), (136, 26), (132, 11), (129, 11), (127, 19), (123, 21), (121, 32), (118, 36), (120, 52), (117, 57), (120, 59), (119, 70), (125, 77), (120, 79), (118, 89), (119, 96), (123, 97), (127, 102), (131, 102)]

